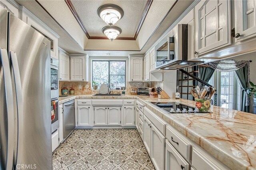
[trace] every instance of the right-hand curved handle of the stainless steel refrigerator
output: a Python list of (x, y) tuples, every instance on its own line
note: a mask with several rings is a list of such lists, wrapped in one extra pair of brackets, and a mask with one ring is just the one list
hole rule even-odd
[[(20, 81), (20, 69), (18, 65), (18, 59), (15, 52), (10, 51), (10, 59), (12, 64), (12, 70), (14, 75), (14, 84), (16, 89), (16, 101), (17, 101), (17, 117), (18, 117), (18, 141), (17, 141), (17, 156), (16, 162), (17, 164), (21, 164), (21, 156), (22, 156), (22, 142), (23, 142), (23, 100), (22, 100), (22, 89), (21, 89), (21, 81)], [(15, 158), (14, 158), (15, 159)], [(16, 167), (17, 170), (17, 167)]]

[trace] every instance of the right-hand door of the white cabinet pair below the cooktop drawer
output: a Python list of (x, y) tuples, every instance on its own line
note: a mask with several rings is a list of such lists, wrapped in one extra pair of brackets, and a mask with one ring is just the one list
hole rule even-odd
[(150, 157), (156, 170), (164, 169), (164, 145), (165, 137), (162, 133), (151, 124), (151, 150)]

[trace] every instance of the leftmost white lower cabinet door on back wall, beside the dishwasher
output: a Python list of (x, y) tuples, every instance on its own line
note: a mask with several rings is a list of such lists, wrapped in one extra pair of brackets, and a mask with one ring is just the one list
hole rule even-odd
[(77, 106), (77, 125), (91, 126), (91, 107)]

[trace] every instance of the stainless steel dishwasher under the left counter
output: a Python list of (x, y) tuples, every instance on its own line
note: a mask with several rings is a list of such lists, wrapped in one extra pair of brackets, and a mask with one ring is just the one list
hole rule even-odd
[(63, 104), (63, 137), (66, 138), (76, 127), (75, 121), (75, 101)]

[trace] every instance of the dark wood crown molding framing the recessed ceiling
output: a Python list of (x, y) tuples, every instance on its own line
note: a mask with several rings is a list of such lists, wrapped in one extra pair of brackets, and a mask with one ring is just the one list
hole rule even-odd
[[(108, 38), (106, 37), (98, 37), (98, 36), (90, 36), (88, 31), (86, 30), (81, 18), (79, 17), (78, 13), (76, 12), (76, 9), (74, 8), (71, 0), (65, 0), (66, 4), (68, 5), (68, 8), (70, 9), (70, 11), (72, 12), (72, 14), (74, 15), (74, 17), (76, 18), (76, 21), (78, 22), (78, 24), (80, 25), (80, 27), (82, 28), (84, 34), (86, 35), (86, 37), (89, 39), (89, 40), (109, 40)], [(117, 37), (115, 40), (136, 40), (136, 38), (138, 37), (138, 34), (140, 32), (140, 29), (142, 27), (142, 24), (144, 23), (144, 20), (148, 14), (148, 11), (150, 9), (150, 6), (152, 4), (153, 0), (148, 0), (147, 1), (147, 4), (145, 6), (145, 9), (144, 9), (144, 12), (142, 14), (142, 18), (140, 20), (140, 23), (138, 25), (138, 28), (135, 32), (135, 35), (134, 37)]]

